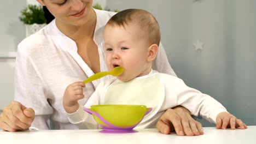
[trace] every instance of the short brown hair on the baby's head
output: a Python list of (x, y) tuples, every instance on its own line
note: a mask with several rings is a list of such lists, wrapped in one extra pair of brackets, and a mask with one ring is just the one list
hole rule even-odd
[(155, 17), (146, 10), (126, 9), (112, 16), (107, 25), (127, 26), (130, 22), (136, 24), (145, 32), (149, 38), (149, 45), (160, 43), (160, 28)]

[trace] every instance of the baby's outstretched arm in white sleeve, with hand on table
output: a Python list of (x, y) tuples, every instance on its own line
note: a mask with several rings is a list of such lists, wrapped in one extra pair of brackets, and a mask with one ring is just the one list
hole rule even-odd
[(201, 116), (207, 121), (215, 123), (217, 129), (247, 128), (245, 123), (226, 111), (225, 107), (216, 99), (186, 86), (183, 81), (179, 82), (177, 105), (186, 107), (192, 115)]

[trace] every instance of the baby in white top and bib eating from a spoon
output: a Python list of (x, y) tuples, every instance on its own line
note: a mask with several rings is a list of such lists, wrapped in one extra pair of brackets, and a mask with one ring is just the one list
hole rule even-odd
[(84, 98), (84, 83), (81, 81), (69, 85), (63, 97), (63, 107), (69, 121), (80, 128), (96, 129), (100, 126), (83, 110), (84, 107), (103, 104), (146, 105), (153, 110), (136, 128), (155, 128), (162, 113), (181, 105), (192, 115), (211, 123), (219, 119), (225, 127), (235, 123), (241, 129), (247, 128), (210, 95), (188, 87), (178, 77), (152, 70), (159, 43), (158, 22), (148, 11), (127, 9), (115, 14), (104, 28), (106, 61), (109, 69), (122, 66), (124, 72), (101, 82), (84, 106), (78, 103), (79, 99)]

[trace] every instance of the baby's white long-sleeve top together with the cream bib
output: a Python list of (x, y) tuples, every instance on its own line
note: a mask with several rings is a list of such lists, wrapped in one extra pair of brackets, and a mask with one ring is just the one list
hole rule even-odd
[(162, 113), (178, 105), (187, 108), (192, 115), (211, 123), (216, 123), (220, 112), (227, 112), (217, 100), (188, 87), (178, 77), (151, 71), (150, 74), (136, 77), (129, 82), (122, 82), (115, 77), (101, 82), (84, 106), (80, 106), (74, 113), (67, 113), (69, 121), (81, 129), (98, 129), (100, 125), (83, 109), (104, 104), (152, 107), (151, 114), (149, 113), (136, 128), (155, 128)]

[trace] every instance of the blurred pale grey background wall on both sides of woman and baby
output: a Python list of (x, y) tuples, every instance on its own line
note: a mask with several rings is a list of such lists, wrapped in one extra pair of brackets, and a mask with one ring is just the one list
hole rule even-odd
[[(0, 111), (13, 100), (16, 47), (26, 37), (20, 10), (36, 0), (0, 5)], [(168, 60), (188, 86), (211, 95), (256, 125), (255, 0), (95, 0), (106, 10), (144, 9), (159, 21)], [(204, 127), (213, 126), (199, 119)]]

